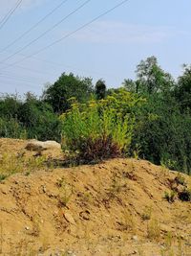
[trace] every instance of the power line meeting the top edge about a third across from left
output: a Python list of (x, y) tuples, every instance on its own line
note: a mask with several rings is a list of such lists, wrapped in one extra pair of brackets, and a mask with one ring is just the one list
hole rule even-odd
[(28, 35), (30, 32), (32, 32), (33, 29), (35, 29), (38, 25), (40, 25), (44, 20), (46, 20), (49, 16), (53, 14), (53, 12), (56, 12), (62, 5), (64, 5), (69, 0), (62, 1), (59, 5), (57, 5), (51, 12), (47, 13), (44, 17), (42, 17), (39, 21), (37, 21), (29, 30), (24, 32), (22, 35), (19, 35), (16, 39), (14, 39), (9, 45), (7, 45), (5, 48), (3, 48), (0, 53), (5, 52), (7, 49), (9, 49), (12, 45), (14, 45), (16, 42), (18, 42), (20, 39), (22, 39), (25, 35)]

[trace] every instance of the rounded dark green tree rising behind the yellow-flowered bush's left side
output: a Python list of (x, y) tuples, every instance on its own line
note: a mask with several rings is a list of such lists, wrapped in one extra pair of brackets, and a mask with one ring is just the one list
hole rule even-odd
[(90, 78), (74, 77), (63, 73), (61, 77), (49, 86), (43, 94), (45, 102), (53, 106), (55, 113), (62, 113), (70, 108), (69, 99), (75, 98), (77, 102), (86, 102), (93, 93), (93, 83)]

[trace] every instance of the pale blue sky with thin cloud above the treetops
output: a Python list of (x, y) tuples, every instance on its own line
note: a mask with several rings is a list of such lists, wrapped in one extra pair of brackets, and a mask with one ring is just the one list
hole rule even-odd
[(63, 72), (118, 87), (151, 56), (178, 78), (182, 64), (191, 63), (191, 1), (129, 0), (78, 30), (120, 2), (23, 0), (2, 25), (19, 0), (0, 0), (0, 93), (41, 95)]

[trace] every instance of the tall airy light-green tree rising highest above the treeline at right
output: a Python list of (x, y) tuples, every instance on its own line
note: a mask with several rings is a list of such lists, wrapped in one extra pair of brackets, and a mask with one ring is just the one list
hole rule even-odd
[(141, 60), (137, 67), (137, 90), (140, 93), (167, 92), (173, 88), (174, 81), (158, 64), (156, 57)]

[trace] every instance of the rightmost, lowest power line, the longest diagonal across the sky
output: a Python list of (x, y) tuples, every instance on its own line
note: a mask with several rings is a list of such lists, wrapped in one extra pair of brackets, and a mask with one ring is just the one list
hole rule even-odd
[[(63, 41), (64, 39), (67, 39), (67, 38), (70, 37), (71, 35), (74, 35), (74, 34), (77, 33), (78, 31), (84, 29), (85, 27), (88, 27), (89, 25), (91, 25), (92, 23), (94, 23), (94, 22), (95, 22), (96, 20), (98, 20), (99, 18), (105, 16), (105, 15), (108, 14), (109, 12), (113, 12), (113, 11), (116, 10), (118, 7), (122, 6), (123, 4), (125, 4), (125, 3), (128, 2), (128, 1), (129, 1), (129, 0), (123, 0), (123, 1), (121, 1), (120, 3), (118, 3), (118, 4), (117, 4), (116, 6), (114, 6), (113, 8), (107, 10), (106, 12), (102, 12), (101, 14), (99, 14), (98, 16), (96, 16), (95, 18), (93, 18), (92, 20), (90, 20), (89, 22), (87, 22), (87, 23), (85, 23), (84, 25), (78, 27), (78, 28), (77, 28), (76, 30), (74, 30), (73, 32), (71, 32), (71, 33), (69, 33), (69, 34), (67, 34), (67, 35), (64, 35), (64, 36), (62, 36), (61, 38), (59, 38), (59, 39), (53, 41), (53, 43), (51, 43), (51, 44), (49, 44), (49, 45), (47, 45), (47, 46), (41, 48), (39, 51), (33, 53), (32, 55), (26, 56), (25, 58), (22, 58), (22, 59), (20, 59), (20, 60), (18, 60), (18, 61), (15, 61), (15, 62), (9, 64), (7, 67), (14, 66), (15, 64), (20, 63), (20, 62), (22, 62), (22, 61), (25, 60), (25, 59), (33, 58), (34, 56), (38, 55), (39, 53), (41, 53), (41, 52), (43, 52), (43, 51), (45, 51), (45, 50), (51, 48), (53, 45), (55, 45), (55, 44), (57, 44), (57, 43)], [(7, 68), (7, 67), (6, 67), (6, 68)], [(3, 68), (3, 69), (4, 69), (4, 68)]]

